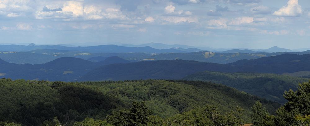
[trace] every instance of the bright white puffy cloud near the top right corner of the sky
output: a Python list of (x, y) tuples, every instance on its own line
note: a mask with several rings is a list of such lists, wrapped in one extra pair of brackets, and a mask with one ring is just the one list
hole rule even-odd
[(278, 11), (275, 11), (274, 16), (299, 16), (303, 13), (301, 6), (298, 4), (298, 0), (289, 0), (286, 6), (281, 7)]

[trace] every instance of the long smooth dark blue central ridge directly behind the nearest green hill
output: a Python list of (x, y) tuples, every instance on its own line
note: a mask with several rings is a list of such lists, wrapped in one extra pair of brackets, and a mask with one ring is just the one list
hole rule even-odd
[(181, 79), (200, 71), (236, 71), (235, 67), (217, 63), (186, 60), (158, 60), (127, 64), (111, 64), (93, 69), (79, 81)]

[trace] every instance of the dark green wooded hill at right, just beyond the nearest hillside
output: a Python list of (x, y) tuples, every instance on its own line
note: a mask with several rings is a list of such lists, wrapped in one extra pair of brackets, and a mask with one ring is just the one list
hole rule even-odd
[(298, 83), (308, 82), (309, 79), (290, 77), (269, 73), (224, 73), (198, 72), (184, 77), (185, 80), (211, 81), (224, 84), (240, 91), (245, 91), (268, 100), (284, 104), (283, 92), (289, 89), (297, 90)]

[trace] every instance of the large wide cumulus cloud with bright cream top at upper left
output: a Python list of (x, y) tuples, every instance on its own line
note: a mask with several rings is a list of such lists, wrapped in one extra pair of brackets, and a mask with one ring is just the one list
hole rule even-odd
[(42, 11), (35, 12), (36, 19), (70, 20), (126, 20), (127, 17), (118, 8), (103, 9), (96, 5), (84, 6), (82, 2), (67, 1), (62, 8), (51, 9), (43, 7)]

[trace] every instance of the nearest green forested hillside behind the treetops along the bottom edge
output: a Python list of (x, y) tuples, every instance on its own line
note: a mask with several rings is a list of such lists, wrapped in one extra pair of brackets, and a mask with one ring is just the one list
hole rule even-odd
[[(269, 112), (280, 105), (236, 89), (209, 82), (140, 80), (127, 82), (46, 82), (0, 79), (0, 122), (41, 125), (55, 116), (72, 125), (86, 117), (106, 119), (143, 101), (151, 115), (169, 120), (181, 112), (206, 105), (221, 113), (241, 107), (245, 123), (260, 100)], [(208, 95), (207, 95), (208, 94)], [(14, 100), (12, 100), (14, 99)], [(108, 117), (110, 118), (110, 117)], [(240, 117), (238, 117), (240, 118)]]

